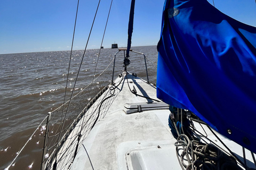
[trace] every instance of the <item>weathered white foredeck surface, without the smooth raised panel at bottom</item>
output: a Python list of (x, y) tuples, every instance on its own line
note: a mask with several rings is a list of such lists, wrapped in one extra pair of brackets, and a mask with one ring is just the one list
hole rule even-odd
[[(130, 88), (132, 89), (134, 86), (139, 95), (157, 99), (155, 87), (132, 75), (127, 75), (127, 78)], [(110, 106), (107, 115), (94, 126), (94, 129), (84, 141), (84, 146), (89, 153), (94, 169), (126, 169), (126, 165), (123, 165), (125, 164), (125, 154), (123, 158), (118, 158), (120, 157), (118, 152), (125, 152), (125, 148), (131, 149), (134, 143), (137, 143), (134, 146), (136, 148), (161, 145), (161, 141), (165, 145), (176, 141), (168, 127), (169, 110), (125, 114), (123, 111), (125, 103), (153, 101), (132, 94), (127, 85), (127, 80), (122, 81), (117, 88), (121, 91)], [(122, 146), (124, 149), (122, 149)], [(131, 147), (129, 148), (129, 146)], [(90, 169), (90, 162), (85, 160), (88, 160), (88, 158), (85, 150), (81, 148), (72, 168)]]

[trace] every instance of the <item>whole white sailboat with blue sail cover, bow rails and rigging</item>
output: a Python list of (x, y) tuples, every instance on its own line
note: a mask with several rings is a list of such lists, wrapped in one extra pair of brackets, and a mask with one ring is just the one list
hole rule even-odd
[[(85, 88), (45, 117), (41, 169), (255, 168), (256, 28), (204, 0), (166, 0), (155, 86), (147, 57), (131, 49), (134, 5), (127, 48), (88, 86), (99, 91)], [(129, 70), (133, 53), (146, 80)]]

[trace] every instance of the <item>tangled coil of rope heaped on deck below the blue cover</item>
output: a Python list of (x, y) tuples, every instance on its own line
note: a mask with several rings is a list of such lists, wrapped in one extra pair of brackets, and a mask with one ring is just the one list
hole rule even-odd
[(241, 169), (234, 157), (228, 156), (212, 143), (191, 141), (187, 135), (180, 134), (174, 145), (182, 169)]

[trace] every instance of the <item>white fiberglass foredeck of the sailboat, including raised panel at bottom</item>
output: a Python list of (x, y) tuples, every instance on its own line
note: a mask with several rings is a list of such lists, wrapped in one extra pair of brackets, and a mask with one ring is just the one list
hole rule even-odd
[[(130, 88), (133, 89), (134, 86), (139, 95), (157, 99), (155, 87), (133, 75), (127, 77)], [(121, 78), (116, 82), (119, 80)], [(126, 114), (123, 111), (126, 103), (153, 101), (132, 94), (125, 79), (116, 90), (121, 92), (110, 106), (105, 118), (95, 124), (83, 142), (93, 168), (181, 169), (174, 146), (176, 139), (173, 138), (168, 126), (169, 109)], [(199, 129), (199, 126), (196, 128)], [(206, 133), (209, 134), (209, 138), (213, 138), (209, 130)], [(242, 151), (236, 143), (224, 137), (221, 139), (225, 140), (231, 149)], [(219, 141), (213, 140), (220, 144)], [(71, 169), (92, 169), (84, 147), (79, 149)], [(237, 150), (242, 156), (241, 151)], [(251, 164), (252, 158), (250, 160), (248, 164)]]

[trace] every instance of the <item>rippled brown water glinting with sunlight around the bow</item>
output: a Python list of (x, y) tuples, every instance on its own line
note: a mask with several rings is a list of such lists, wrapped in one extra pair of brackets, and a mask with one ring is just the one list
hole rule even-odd
[[(156, 46), (133, 47), (157, 62)], [(97, 73), (106, 68), (117, 49), (101, 49)], [(87, 50), (75, 90), (92, 81), (99, 49)], [(83, 50), (73, 52), (68, 91), (73, 88)], [(18, 154), (30, 135), (48, 112), (63, 103), (70, 52), (40, 52), (0, 55), (0, 169), (5, 169)], [(146, 80), (144, 59), (131, 53), (128, 71)], [(123, 57), (116, 64), (122, 64)], [(150, 65), (148, 65), (150, 67)], [(152, 69), (152, 68), (151, 68)], [(151, 72), (150, 72), (151, 73)], [(155, 81), (156, 70), (153, 71)], [(17, 162), (10, 169), (38, 169), (42, 157), (43, 133), (35, 134), (33, 145), (22, 152), (26, 161)]]

